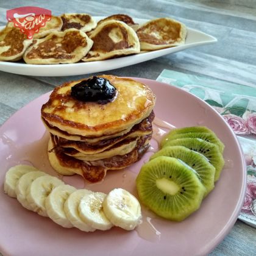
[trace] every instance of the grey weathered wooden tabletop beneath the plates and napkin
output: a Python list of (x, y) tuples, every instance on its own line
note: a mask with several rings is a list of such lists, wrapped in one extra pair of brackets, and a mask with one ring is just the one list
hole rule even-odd
[[(163, 69), (209, 77), (254, 87), (256, 90), (256, 1), (0, 1), (0, 25), (8, 9), (32, 5), (52, 14), (85, 12), (94, 16), (126, 13), (134, 18), (171, 16), (188, 27), (218, 38), (218, 43), (188, 49), (148, 62), (104, 72), (117, 76), (156, 79)], [(0, 71), (0, 124), (16, 110), (62, 82), (74, 77), (32, 77)], [(227, 199), (228, 200), (228, 199)], [(204, 227), (201, 227), (204, 229)], [(212, 255), (255, 255), (256, 229), (236, 221)], [(171, 254), (170, 254), (171, 255)]]

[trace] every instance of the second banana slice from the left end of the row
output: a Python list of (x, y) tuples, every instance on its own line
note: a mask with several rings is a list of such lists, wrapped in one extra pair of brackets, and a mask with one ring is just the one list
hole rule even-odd
[(24, 174), (23, 176), (21, 176), (21, 178), (18, 180), (15, 188), (17, 199), (24, 208), (27, 208), (27, 210), (30, 210), (30, 211), (33, 210), (29, 202), (27, 202), (27, 197), (26, 197), (27, 188), (30, 186), (32, 182), (34, 182), (35, 179), (45, 175), (47, 174), (43, 171), (30, 171)]

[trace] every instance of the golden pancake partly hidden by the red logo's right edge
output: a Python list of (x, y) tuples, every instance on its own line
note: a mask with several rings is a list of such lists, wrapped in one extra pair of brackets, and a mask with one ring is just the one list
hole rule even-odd
[(46, 21), (45, 26), (40, 27), (39, 31), (34, 34), (34, 38), (43, 38), (54, 31), (62, 29), (62, 19), (58, 16), (51, 16), (51, 20)]

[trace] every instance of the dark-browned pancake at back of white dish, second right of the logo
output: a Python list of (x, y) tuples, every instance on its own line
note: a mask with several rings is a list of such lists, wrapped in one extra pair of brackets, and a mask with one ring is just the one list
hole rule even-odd
[(83, 32), (88, 32), (97, 26), (93, 17), (87, 13), (64, 13), (62, 18), (62, 31), (66, 29), (79, 29)]

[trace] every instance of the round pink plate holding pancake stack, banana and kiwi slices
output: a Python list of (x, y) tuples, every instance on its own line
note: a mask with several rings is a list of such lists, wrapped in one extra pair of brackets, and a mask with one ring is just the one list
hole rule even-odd
[[(157, 96), (154, 111), (158, 119), (177, 127), (204, 125), (214, 130), (226, 145), (225, 168), (215, 189), (201, 208), (182, 222), (157, 218), (143, 208), (143, 224), (127, 232), (117, 227), (108, 231), (85, 233), (64, 229), (49, 218), (24, 209), (16, 199), (0, 193), (0, 252), (4, 255), (203, 255), (208, 254), (229, 233), (238, 217), (246, 188), (246, 171), (238, 141), (224, 119), (199, 98), (186, 91), (148, 79)], [(40, 120), (41, 105), (48, 94), (40, 96), (15, 113), (0, 128), (0, 182), (7, 169), (30, 163), (55, 174), (48, 163), (48, 134)], [(154, 141), (152, 141), (154, 143)], [(105, 180), (90, 190), (107, 193), (122, 187), (136, 195), (135, 178), (148, 152), (140, 162), (123, 171), (108, 172)], [(81, 177), (64, 177), (66, 183), (84, 187)]]

